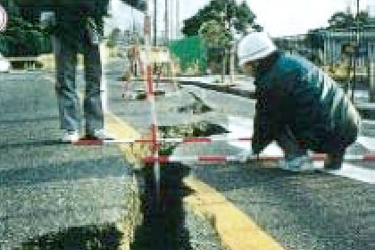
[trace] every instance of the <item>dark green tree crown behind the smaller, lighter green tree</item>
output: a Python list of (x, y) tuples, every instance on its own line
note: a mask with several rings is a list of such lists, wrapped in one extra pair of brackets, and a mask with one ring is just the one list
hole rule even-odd
[(246, 1), (237, 4), (235, 0), (211, 0), (210, 4), (200, 9), (194, 16), (184, 21), (182, 33), (187, 37), (196, 36), (206, 21), (217, 21), (227, 29), (244, 34), (254, 24), (255, 15)]

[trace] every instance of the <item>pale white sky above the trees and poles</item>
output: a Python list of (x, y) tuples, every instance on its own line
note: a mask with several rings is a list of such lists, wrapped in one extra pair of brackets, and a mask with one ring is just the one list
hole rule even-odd
[[(240, 2), (243, 0), (237, 0)], [(180, 36), (176, 27), (176, 19), (179, 17), (179, 27), (182, 28), (183, 20), (193, 16), (210, 0), (169, 0), (171, 27), (170, 36)], [(246, 0), (247, 5), (256, 15), (255, 22), (260, 24), (271, 37), (283, 37), (305, 34), (309, 29), (317, 29), (328, 26), (328, 20), (335, 12), (345, 12), (348, 4), (352, 11), (356, 11), (357, 0)], [(154, 10), (154, 0), (148, 0), (150, 10)], [(165, 29), (164, 4), (165, 0), (156, 0), (157, 3), (157, 29), (160, 36)], [(179, 3), (179, 13), (176, 13), (176, 3)], [(360, 9), (367, 7), (368, 3), (375, 0), (359, 0)], [(121, 29), (142, 30), (143, 14), (137, 10), (130, 10), (129, 6), (122, 4), (120, 0), (111, 1), (112, 20), (111, 27)], [(125, 14), (126, 13), (126, 14)], [(151, 11), (152, 15), (153, 12)], [(134, 27), (134, 23), (138, 24)]]

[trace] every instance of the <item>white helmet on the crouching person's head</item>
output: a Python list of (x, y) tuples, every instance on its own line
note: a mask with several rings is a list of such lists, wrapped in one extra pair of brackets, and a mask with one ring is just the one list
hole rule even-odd
[(252, 32), (242, 38), (237, 46), (239, 66), (266, 57), (276, 50), (266, 32)]

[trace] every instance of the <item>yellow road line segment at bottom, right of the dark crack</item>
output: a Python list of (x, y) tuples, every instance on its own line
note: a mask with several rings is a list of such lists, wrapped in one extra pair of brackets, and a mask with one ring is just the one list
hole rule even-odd
[(185, 202), (212, 220), (224, 246), (230, 250), (284, 249), (212, 187), (193, 177), (185, 179), (185, 183), (195, 190)]

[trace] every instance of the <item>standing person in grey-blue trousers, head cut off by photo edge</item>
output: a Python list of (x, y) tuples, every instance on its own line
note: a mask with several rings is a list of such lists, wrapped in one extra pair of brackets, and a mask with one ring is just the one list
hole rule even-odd
[(111, 137), (104, 130), (101, 98), (102, 63), (99, 44), (109, 0), (71, 1), (51, 12), (42, 12), (42, 24), (50, 31), (56, 63), (56, 94), (63, 142), (79, 140), (81, 126), (79, 94), (76, 84), (77, 55), (84, 57), (85, 95), (83, 100), (85, 137)]

